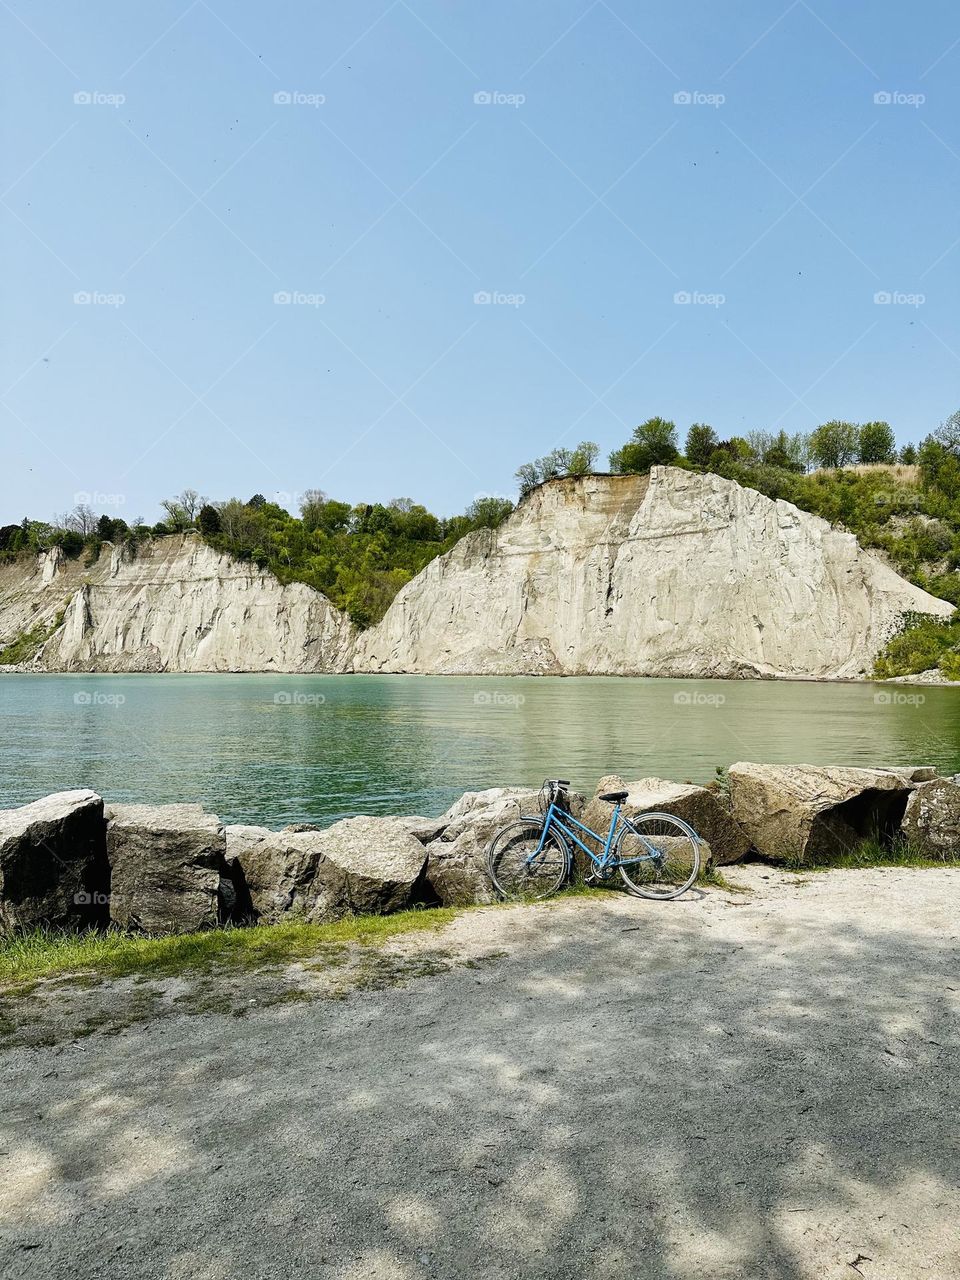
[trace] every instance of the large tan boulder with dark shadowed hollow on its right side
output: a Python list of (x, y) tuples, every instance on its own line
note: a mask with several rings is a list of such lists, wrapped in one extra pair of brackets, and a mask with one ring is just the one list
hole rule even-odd
[(829, 860), (864, 840), (890, 842), (911, 790), (909, 777), (892, 769), (730, 767), (733, 817), (756, 851), (778, 861)]

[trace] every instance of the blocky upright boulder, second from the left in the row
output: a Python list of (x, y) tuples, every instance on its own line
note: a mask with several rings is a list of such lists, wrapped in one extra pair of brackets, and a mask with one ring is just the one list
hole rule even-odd
[(110, 918), (145, 933), (192, 933), (218, 924), (229, 879), (224, 828), (198, 804), (111, 805), (106, 852)]

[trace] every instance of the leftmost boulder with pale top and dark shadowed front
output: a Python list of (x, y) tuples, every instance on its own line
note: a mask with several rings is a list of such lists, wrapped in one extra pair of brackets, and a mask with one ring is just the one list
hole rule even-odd
[(0, 809), (1, 928), (105, 924), (108, 884), (104, 801), (93, 791)]

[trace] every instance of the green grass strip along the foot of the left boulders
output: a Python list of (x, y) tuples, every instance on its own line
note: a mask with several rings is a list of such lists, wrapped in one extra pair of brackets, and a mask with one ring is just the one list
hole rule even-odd
[(456, 908), (442, 906), (396, 915), (352, 915), (333, 924), (289, 922), (172, 938), (113, 929), (79, 934), (33, 929), (0, 937), (0, 986), (73, 974), (172, 978), (183, 973), (260, 969), (323, 954), (330, 947), (378, 946), (402, 933), (440, 929), (457, 914)]

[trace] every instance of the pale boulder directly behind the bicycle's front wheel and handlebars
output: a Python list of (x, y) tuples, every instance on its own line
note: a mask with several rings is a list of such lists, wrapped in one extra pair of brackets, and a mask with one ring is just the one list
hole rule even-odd
[[(426, 845), (426, 878), (444, 906), (493, 902), (486, 851), (497, 832), (521, 814), (539, 814), (538, 787), (490, 787), (467, 791), (438, 822), (440, 833)], [(570, 812), (580, 817), (584, 797), (567, 795)]]

